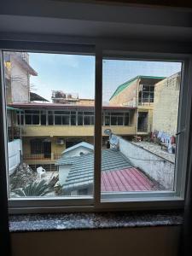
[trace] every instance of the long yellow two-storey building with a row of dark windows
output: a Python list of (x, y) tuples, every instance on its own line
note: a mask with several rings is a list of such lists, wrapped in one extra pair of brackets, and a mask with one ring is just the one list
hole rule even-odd
[[(49, 165), (74, 144), (94, 144), (94, 107), (59, 103), (15, 103), (19, 108), (17, 125), (21, 125), (23, 159), (29, 165)], [(133, 136), (137, 127), (137, 108), (103, 107), (103, 147), (108, 137), (104, 130), (110, 128), (120, 136)]]

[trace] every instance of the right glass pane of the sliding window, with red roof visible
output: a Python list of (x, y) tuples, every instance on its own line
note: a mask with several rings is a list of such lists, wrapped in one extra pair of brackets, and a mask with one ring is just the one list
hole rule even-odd
[[(102, 198), (173, 191), (181, 62), (104, 59)], [(125, 195), (124, 195), (125, 196)]]

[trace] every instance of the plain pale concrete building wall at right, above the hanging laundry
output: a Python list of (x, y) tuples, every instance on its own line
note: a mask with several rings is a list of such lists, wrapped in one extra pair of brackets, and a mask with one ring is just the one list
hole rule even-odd
[(155, 84), (153, 131), (176, 136), (181, 73)]

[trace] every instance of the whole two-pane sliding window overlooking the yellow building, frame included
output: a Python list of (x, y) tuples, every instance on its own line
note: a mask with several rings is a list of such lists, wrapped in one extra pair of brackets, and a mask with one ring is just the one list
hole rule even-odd
[[(62, 67), (48, 72), (44, 84), (55, 81), (55, 75), (57, 82), (63, 79), (63, 70), (68, 77), (66, 87), (62, 79), (46, 91), (39, 85), (37, 93), (49, 102), (22, 102), (16, 92), (15, 102), (7, 101), (7, 108), (15, 108), (9, 131), (17, 132), (9, 152), (19, 147), (15, 166), (9, 159), (11, 207), (102, 209), (130, 207), (131, 201), (165, 201), (168, 206), (168, 201), (177, 205), (183, 200), (189, 59), (136, 55), (132, 61), (104, 51), (95, 63), (93, 55), (28, 54), (30, 82), (35, 84), (43, 72), (32, 68), (39, 60), (44, 71)], [(9, 86), (21, 90), (20, 84)], [(25, 181), (18, 171), (23, 164)], [(42, 180), (46, 194), (26, 196), (27, 186)]]

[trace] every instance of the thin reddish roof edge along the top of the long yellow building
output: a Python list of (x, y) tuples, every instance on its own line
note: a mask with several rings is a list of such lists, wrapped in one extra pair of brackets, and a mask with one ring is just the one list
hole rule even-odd
[[(13, 108), (81, 108), (81, 109), (91, 109), (94, 110), (94, 106), (90, 105), (72, 105), (72, 104), (61, 104), (61, 103), (36, 103), (36, 102), (31, 102), (31, 103), (11, 103), (9, 104), (9, 107)], [(127, 109), (137, 109), (137, 108), (131, 108), (131, 107), (119, 107), (119, 106), (104, 106), (102, 107), (103, 109), (119, 109), (119, 110), (127, 110)]]

